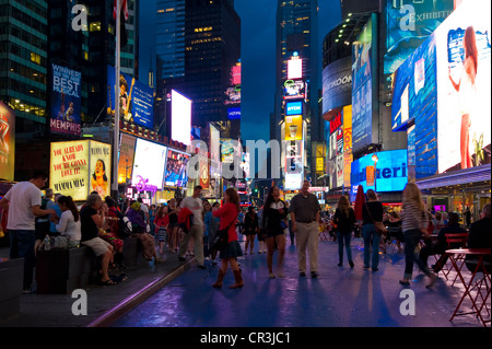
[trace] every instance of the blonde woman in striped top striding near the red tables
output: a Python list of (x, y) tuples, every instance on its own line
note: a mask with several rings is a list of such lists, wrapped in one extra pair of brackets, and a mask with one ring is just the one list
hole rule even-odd
[(430, 288), (437, 277), (415, 255), (415, 247), (418, 247), (422, 235), (429, 236), (430, 233), (427, 232), (429, 217), (425, 213), (420, 189), (414, 183), (407, 183), (405, 186), (401, 221), (405, 240), (405, 275), (400, 283), (410, 286), (413, 263), (417, 263), (420, 269), (431, 279), (431, 282), (426, 286), (426, 288)]

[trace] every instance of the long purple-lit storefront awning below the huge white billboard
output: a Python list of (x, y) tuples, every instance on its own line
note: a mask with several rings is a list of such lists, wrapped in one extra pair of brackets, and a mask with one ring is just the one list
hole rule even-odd
[(417, 185), (420, 189), (431, 189), (444, 186), (481, 183), (490, 181), (490, 178), (491, 165), (488, 164), (418, 179)]

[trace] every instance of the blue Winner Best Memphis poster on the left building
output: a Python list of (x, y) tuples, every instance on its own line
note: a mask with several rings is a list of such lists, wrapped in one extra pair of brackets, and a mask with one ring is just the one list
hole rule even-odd
[(51, 85), (49, 120), (51, 132), (79, 136), (81, 131), (81, 72), (52, 63)]

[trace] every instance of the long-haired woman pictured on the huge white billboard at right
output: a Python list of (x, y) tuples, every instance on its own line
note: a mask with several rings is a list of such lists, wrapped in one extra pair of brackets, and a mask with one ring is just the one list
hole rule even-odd
[(461, 128), (459, 133), (459, 150), (461, 153), (461, 168), (471, 167), (470, 155), (470, 126), (472, 118), (472, 109), (476, 104), (476, 78), (478, 66), (477, 38), (472, 26), (465, 30), (462, 39), (465, 50), (465, 60), (462, 62), (461, 78), (458, 82), (453, 80), (449, 68), (449, 80), (461, 97)]

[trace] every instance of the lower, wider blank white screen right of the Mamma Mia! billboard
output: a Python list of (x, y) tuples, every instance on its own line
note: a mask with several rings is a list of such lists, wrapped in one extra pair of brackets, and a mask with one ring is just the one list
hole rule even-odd
[(136, 186), (143, 181), (147, 185), (162, 189), (166, 150), (164, 146), (137, 138), (131, 185)]

